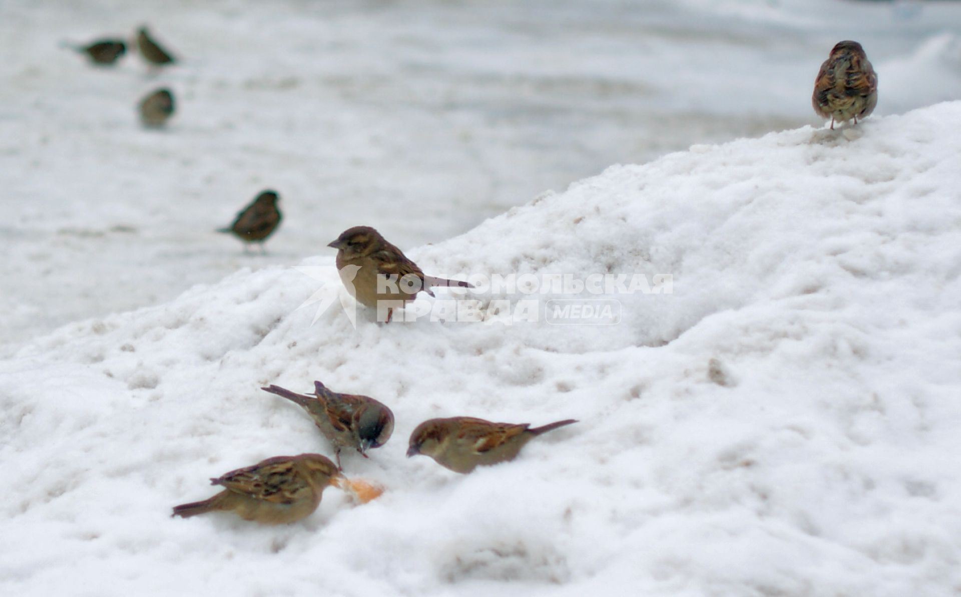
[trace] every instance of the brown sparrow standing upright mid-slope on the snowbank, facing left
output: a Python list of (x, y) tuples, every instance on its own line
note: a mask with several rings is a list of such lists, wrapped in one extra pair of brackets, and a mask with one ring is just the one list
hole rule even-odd
[[(357, 302), (366, 307), (378, 301), (410, 301), (418, 292), (433, 296), (431, 286), (473, 288), (466, 282), (426, 276), (400, 249), (387, 242), (370, 226), (355, 226), (327, 245), (337, 250), (337, 272)], [(356, 267), (347, 267), (354, 265)], [(379, 281), (380, 278), (380, 281)], [(409, 286), (405, 285), (408, 281)], [(378, 285), (382, 291), (378, 291)], [(393, 308), (387, 309), (390, 322)]]

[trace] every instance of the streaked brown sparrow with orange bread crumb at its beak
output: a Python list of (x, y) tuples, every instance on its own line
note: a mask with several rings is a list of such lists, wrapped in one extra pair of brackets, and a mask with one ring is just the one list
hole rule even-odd
[(278, 456), (210, 479), (210, 485), (226, 488), (202, 502), (174, 507), (172, 516), (232, 511), (244, 520), (268, 525), (296, 522), (317, 510), (324, 489), (340, 477), (325, 456)]

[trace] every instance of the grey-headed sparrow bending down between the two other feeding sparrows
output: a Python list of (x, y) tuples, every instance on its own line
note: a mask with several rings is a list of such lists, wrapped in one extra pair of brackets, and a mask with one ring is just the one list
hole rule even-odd
[(380, 448), (394, 431), (394, 413), (368, 396), (338, 394), (314, 382), (314, 395), (298, 394), (280, 386), (261, 387), (307, 410), (310, 418), (333, 444), (334, 458), (340, 468), (341, 448), (353, 448), (367, 457), (367, 450)]

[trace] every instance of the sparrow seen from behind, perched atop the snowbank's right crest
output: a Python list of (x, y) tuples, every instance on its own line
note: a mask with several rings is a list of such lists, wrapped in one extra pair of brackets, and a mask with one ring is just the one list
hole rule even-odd
[(877, 105), (877, 75), (857, 41), (839, 41), (814, 81), (814, 112), (834, 121), (864, 118)]

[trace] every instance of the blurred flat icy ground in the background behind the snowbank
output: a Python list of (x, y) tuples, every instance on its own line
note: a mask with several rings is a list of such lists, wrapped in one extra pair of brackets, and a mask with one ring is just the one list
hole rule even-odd
[[(141, 22), (180, 65), (59, 47)], [(957, 98), (959, 24), (956, 2), (4, 0), (0, 355), (359, 223), (438, 242), (612, 163), (820, 124), (812, 82), (842, 38), (875, 62), (878, 114)], [(160, 85), (179, 113), (143, 131)], [(286, 220), (244, 256), (210, 231), (264, 187)]]

